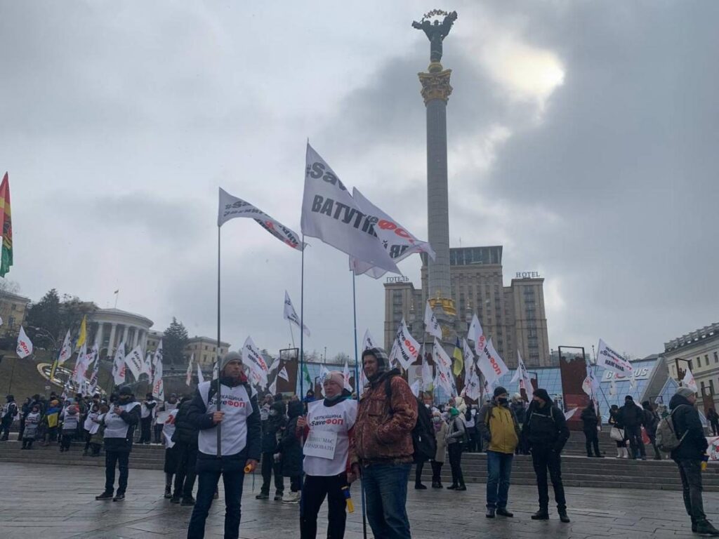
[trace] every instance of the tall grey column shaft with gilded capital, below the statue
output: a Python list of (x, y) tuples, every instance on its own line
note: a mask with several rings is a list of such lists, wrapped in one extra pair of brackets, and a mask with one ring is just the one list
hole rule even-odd
[(429, 65), (429, 73), (418, 73), (427, 109), (427, 228), (436, 253), (434, 260), (427, 257), (427, 294), (438, 320), (445, 324), (454, 323), (457, 316), (449, 275), (446, 105), (452, 93), (450, 75), (452, 70), (443, 69), (439, 62)]

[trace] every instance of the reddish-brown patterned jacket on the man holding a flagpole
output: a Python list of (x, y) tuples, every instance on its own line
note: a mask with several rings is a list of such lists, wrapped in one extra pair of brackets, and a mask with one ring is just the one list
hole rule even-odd
[[(393, 369), (370, 384), (359, 400), (354, 423), (354, 448), (362, 464), (412, 462), (412, 429), (417, 400), (407, 382)], [(385, 380), (391, 377), (390, 394)]]

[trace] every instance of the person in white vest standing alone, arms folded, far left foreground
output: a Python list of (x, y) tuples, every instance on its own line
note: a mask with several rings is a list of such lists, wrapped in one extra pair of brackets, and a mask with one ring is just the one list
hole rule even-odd
[[(139, 423), (139, 402), (134, 400), (129, 387), (123, 387), (120, 390), (117, 402), (105, 414), (103, 423), (105, 426), (105, 491), (95, 499), (111, 499), (113, 502), (122, 502), (127, 489), (132, 438), (135, 427)], [(117, 482), (117, 492), (113, 497), (116, 465), (120, 470), (120, 478)]]

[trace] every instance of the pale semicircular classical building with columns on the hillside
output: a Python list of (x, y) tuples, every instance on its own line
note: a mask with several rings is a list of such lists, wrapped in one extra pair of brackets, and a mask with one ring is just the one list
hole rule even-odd
[(92, 342), (98, 345), (100, 355), (110, 356), (123, 341), (127, 349), (139, 344), (145, 350), (153, 322), (145, 316), (111, 308), (91, 313), (88, 315), (88, 323), (89, 331), (94, 335), (91, 337)]

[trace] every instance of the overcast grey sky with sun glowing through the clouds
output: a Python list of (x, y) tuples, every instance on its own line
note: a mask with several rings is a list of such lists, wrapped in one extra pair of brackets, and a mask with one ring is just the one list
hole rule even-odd
[[(541, 272), (551, 348), (644, 356), (718, 321), (714, 1), (454, 0), (444, 42), (453, 247)], [(426, 239), (420, 1), (1, 1), (9, 278), (216, 333), (217, 188), (299, 232), (307, 138)], [(358, 9), (361, 5), (361, 9)], [(1, 172), (0, 172), (1, 173)], [(222, 336), (290, 342), (300, 254), (222, 228)], [(347, 257), (308, 240), (306, 348), (353, 349)], [(400, 263), (418, 283), (419, 259)], [(357, 281), (382, 340), (382, 281)], [(297, 333), (297, 332), (296, 332)], [(296, 335), (297, 336), (297, 335)]]

